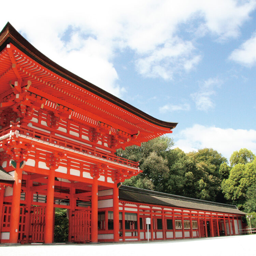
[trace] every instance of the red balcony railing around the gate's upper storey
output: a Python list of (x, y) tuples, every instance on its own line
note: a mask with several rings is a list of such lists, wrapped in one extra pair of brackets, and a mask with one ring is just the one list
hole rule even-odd
[(8, 134), (10, 134), (10, 132), (15, 132), (16, 134), (26, 136), (27, 138), (30, 137), (33, 139), (37, 139), (39, 142), (42, 142), (42, 143), (44, 142), (44, 144), (45, 142), (48, 142), (54, 145), (58, 145), (60, 147), (65, 147), (67, 149), (72, 149), (74, 151), (83, 152), (91, 156), (95, 156), (95, 157), (102, 158), (104, 160), (120, 163), (122, 165), (126, 165), (129, 167), (134, 167), (134, 168), (139, 167), (139, 162), (134, 162), (134, 161), (116, 156), (109, 152), (105, 152), (103, 150), (99, 150), (97, 148), (84, 145), (82, 144), (82, 142), (79, 143), (72, 139), (62, 138), (44, 131), (37, 130), (33, 127), (26, 127), (18, 124), (14, 124), (8, 128), (4, 128), (0, 130), (0, 140), (1, 140), (1, 137), (2, 139), (8, 138)]

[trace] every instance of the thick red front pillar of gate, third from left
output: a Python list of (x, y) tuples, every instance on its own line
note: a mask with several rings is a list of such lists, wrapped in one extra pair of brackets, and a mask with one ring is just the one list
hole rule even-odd
[(98, 179), (93, 178), (91, 188), (91, 242), (98, 242)]

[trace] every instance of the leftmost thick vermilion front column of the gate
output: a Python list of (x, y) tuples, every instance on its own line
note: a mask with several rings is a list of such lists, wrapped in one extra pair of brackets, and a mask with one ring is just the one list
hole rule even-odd
[(10, 243), (17, 243), (19, 230), (19, 212), (20, 212), (20, 191), (22, 183), (22, 170), (19, 168), (20, 163), (17, 162), (14, 170), (14, 184), (12, 196), (12, 209), (10, 218)]

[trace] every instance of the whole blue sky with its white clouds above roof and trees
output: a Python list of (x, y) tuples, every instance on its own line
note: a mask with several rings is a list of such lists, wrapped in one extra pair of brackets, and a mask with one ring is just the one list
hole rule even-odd
[(59, 3), (5, 2), (13, 11), (1, 26), (9, 21), (64, 68), (178, 122), (171, 136), (185, 152), (256, 154), (255, 0)]

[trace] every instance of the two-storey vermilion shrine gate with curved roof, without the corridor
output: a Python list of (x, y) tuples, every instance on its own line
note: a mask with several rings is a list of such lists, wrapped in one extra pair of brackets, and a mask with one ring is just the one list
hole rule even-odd
[[(117, 184), (141, 170), (114, 153), (176, 125), (63, 69), (6, 24), (0, 33), (0, 166), (14, 183), (0, 180), (1, 242), (52, 243), (55, 207), (69, 210), (69, 241), (91, 242), (98, 241), (98, 209), (111, 208), (111, 237), (119, 241)], [(106, 190), (111, 198), (100, 196)], [(79, 211), (90, 219), (81, 230)]]

